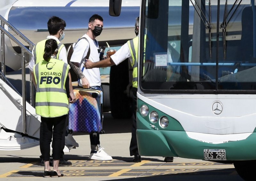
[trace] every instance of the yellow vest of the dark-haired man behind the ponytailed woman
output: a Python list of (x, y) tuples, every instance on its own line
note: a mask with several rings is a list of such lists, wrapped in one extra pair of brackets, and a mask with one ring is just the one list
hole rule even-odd
[[(36, 45), (34, 47), (33, 54), (34, 54), (35, 64), (44, 60), (43, 56), (44, 56), (44, 47), (45, 47), (46, 40), (47, 39), (39, 41), (38, 43), (36, 43)], [(58, 47), (59, 47), (59, 51), (58, 51), (58, 54), (56, 55), (57, 59), (59, 59), (61, 48), (65, 47), (65, 46), (62, 43), (58, 43)]]

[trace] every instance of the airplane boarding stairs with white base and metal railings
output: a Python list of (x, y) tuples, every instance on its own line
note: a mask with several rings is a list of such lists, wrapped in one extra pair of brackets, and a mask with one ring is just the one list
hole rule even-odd
[[(19, 30), (11, 25), (4, 17), (0, 15), (1, 25), (1, 72), (0, 72), (0, 150), (20, 150), (39, 145), (41, 117), (36, 114), (33, 107), (34, 95), (33, 83), (30, 76), (30, 102), (26, 101), (26, 71), (28, 62), (25, 61), (25, 55), (32, 56), (34, 44), (28, 40)], [(5, 28), (4, 28), (5, 27)], [(22, 40), (28, 43), (29, 49), (19, 40), (12, 36), (6, 29), (14, 31)], [(13, 87), (5, 77), (5, 54), (9, 51), (10, 40), (14, 41), (20, 48), (21, 54), (15, 53), (17, 63), (21, 63), (22, 68), (22, 95)], [(21, 55), (21, 56), (20, 56)], [(14, 59), (13, 61), (15, 61)], [(23, 106), (24, 104), (24, 106)], [(65, 136), (64, 152), (78, 147), (78, 143), (72, 137), (72, 134)]]

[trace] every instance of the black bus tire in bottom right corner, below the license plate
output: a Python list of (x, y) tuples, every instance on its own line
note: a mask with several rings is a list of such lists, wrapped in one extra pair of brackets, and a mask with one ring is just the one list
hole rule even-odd
[(237, 161), (234, 166), (244, 180), (255, 180), (256, 161)]

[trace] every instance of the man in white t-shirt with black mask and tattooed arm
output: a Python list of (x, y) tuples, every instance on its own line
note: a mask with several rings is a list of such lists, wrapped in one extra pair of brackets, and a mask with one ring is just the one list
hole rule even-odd
[[(78, 85), (83, 88), (90, 88), (100, 90), (101, 81), (100, 81), (100, 69), (83, 69), (85, 57), (88, 53), (90, 47), (90, 56), (89, 59), (92, 62), (100, 61), (99, 53), (98, 53), (98, 41), (95, 40), (97, 36), (100, 35), (103, 27), (103, 18), (100, 15), (94, 14), (89, 19), (88, 30), (87, 33), (84, 34), (75, 47), (74, 52), (70, 59), (70, 66), (80, 78)], [(88, 43), (89, 42), (89, 43)], [(83, 72), (82, 72), (83, 69)], [(103, 148), (100, 147), (100, 134), (97, 134), (96, 137), (93, 134), (90, 134), (90, 142), (91, 142), (91, 153), (89, 158), (92, 160), (112, 160), (112, 157), (109, 156)]]

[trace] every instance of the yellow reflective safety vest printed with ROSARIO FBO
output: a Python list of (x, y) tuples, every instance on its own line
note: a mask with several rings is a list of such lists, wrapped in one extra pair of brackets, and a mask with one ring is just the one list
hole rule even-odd
[(36, 79), (36, 114), (45, 118), (68, 114), (65, 82), (69, 65), (58, 59), (43, 60), (33, 67)]

